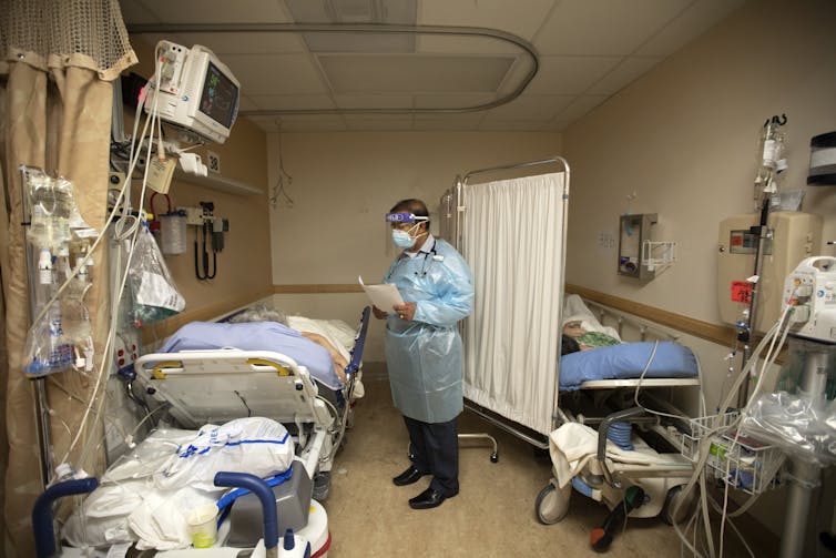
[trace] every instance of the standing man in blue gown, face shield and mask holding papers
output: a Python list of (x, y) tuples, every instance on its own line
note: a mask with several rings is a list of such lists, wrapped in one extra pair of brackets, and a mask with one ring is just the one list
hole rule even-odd
[(402, 250), (384, 283), (398, 287), (405, 303), (386, 318), (386, 363), (395, 406), (404, 414), (412, 464), (392, 481), (429, 488), (409, 500), (414, 509), (435, 508), (459, 493), (457, 417), (463, 408), (461, 337), (456, 324), (472, 308), (473, 280), (465, 260), (429, 232), (420, 200), (398, 202), (387, 215), (392, 241)]

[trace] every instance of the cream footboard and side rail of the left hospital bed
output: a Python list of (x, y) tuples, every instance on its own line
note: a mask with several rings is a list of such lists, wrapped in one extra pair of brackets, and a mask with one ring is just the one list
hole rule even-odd
[[(327, 388), (314, 382), (307, 369), (298, 367), (293, 358), (271, 352), (271, 347), (144, 355), (134, 365), (136, 383), (156, 406), (166, 406), (166, 413), (184, 428), (222, 424), (241, 416), (267, 416), (285, 424), (297, 446), (310, 455), (306, 465), (310, 477), (327, 475), (350, 425), (369, 312), (368, 307), (364, 310), (354, 343), (347, 348), (350, 361), (336, 402), (323, 395)], [(317, 322), (317, 331), (326, 333), (327, 324)], [(338, 339), (339, 335), (328, 337)], [(339, 343), (337, 339), (334, 343)], [(296, 368), (300, 371), (292, 374)], [(323, 493), (320, 499), (327, 497), (327, 489)]]

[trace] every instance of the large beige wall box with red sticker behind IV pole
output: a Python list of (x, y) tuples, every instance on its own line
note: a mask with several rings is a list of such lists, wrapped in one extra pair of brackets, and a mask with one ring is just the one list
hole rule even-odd
[(766, 332), (781, 315), (784, 278), (802, 260), (819, 252), (822, 216), (798, 211), (769, 213), (761, 275), (754, 277), (758, 223), (759, 215), (755, 213), (734, 215), (720, 223), (717, 297), (721, 318), (735, 324), (751, 303), (756, 282), (758, 310), (754, 329)]

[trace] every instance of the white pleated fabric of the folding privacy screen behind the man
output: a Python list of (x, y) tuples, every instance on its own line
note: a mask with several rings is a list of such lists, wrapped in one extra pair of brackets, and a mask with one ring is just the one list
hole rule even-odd
[(465, 397), (551, 432), (563, 290), (564, 173), (462, 186), (461, 252), (476, 300)]

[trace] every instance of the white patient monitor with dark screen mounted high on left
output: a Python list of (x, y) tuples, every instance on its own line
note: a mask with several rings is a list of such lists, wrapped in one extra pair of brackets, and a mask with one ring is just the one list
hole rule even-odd
[(145, 87), (145, 112), (200, 138), (224, 143), (238, 115), (241, 84), (230, 68), (200, 44), (156, 47), (156, 72)]

